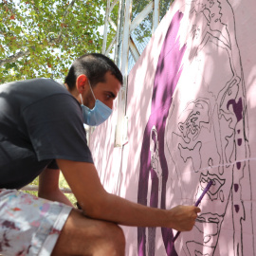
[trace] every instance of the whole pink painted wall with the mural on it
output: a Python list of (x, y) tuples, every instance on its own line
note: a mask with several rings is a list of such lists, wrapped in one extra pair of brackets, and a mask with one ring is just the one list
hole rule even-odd
[(255, 0), (175, 1), (129, 74), (128, 143), (115, 111), (92, 134), (103, 186), (131, 201), (193, 204), (213, 180), (191, 232), (123, 227), (126, 255), (256, 255), (255, 27)]

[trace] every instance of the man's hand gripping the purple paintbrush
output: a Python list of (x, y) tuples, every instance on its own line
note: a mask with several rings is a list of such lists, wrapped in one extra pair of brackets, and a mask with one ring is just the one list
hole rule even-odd
[(194, 206), (176, 206), (169, 210), (170, 223), (172, 229), (178, 231), (190, 231), (197, 218), (197, 213), (201, 210)]

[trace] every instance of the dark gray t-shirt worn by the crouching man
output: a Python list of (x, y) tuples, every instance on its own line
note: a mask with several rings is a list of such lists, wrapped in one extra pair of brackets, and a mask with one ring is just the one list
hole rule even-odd
[(0, 188), (22, 188), (55, 159), (93, 163), (80, 103), (49, 79), (0, 85)]

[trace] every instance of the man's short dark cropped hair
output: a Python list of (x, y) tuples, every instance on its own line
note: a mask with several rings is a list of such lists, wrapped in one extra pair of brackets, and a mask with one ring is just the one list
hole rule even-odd
[(101, 53), (88, 53), (74, 61), (64, 82), (69, 89), (73, 89), (76, 86), (77, 78), (84, 74), (93, 87), (98, 82), (105, 82), (105, 74), (108, 71), (122, 84), (122, 74), (112, 60)]

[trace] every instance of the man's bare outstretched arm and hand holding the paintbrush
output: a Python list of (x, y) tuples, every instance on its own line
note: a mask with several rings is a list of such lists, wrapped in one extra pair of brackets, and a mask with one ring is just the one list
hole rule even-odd
[(148, 208), (105, 192), (95, 166), (91, 163), (57, 159), (58, 166), (85, 215), (126, 226), (166, 227), (191, 230), (197, 212), (193, 206), (177, 206), (172, 210)]

